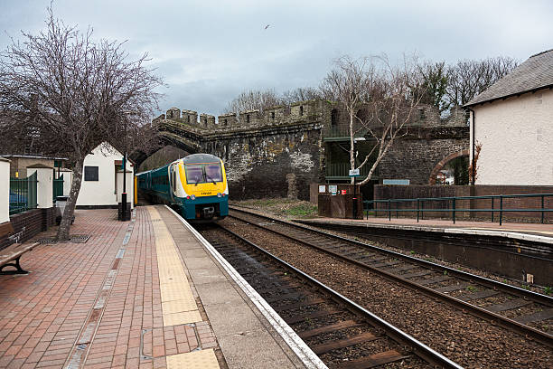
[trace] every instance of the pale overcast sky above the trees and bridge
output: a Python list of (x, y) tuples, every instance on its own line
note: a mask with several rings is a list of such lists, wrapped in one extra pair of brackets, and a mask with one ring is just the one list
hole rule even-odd
[[(5, 49), (8, 36), (42, 29), (50, 0), (0, 4)], [(346, 53), (524, 61), (553, 48), (551, 0), (56, 0), (53, 8), (98, 38), (127, 40), (131, 57), (148, 52), (167, 84), (161, 110), (214, 115), (243, 90), (317, 86)]]

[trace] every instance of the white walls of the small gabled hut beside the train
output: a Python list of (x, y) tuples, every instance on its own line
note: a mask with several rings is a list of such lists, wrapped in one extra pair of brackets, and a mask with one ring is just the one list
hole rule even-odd
[[(122, 159), (123, 155), (113, 147), (100, 145), (92, 150), (92, 154), (89, 154), (84, 161), (77, 205), (117, 205), (116, 170), (121, 169), (121, 166), (116, 168), (115, 161)], [(84, 166), (98, 166), (98, 181), (85, 181)], [(127, 171), (131, 170), (132, 166), (127, 161)], [(133, 196), (133, 188), (134, 186), (127, 186), (127, 198), (129, 199), (127, 201), (130, 201)]]

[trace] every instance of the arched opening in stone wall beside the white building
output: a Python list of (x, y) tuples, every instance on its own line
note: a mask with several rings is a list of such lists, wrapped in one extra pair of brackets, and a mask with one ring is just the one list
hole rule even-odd
[(445, 156), (430, 173), (428, 185), (468, 185), (469, 149)]

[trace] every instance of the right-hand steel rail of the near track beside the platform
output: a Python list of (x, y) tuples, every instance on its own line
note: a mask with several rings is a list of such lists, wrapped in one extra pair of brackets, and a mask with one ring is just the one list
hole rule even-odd
[(255, 243), (246, 240), (244, 237), (240, 236), (236, 232), (230, 231), (228, 228), (217, 224), (222, 230), (225, 232), (229, 232), (233, 237), (238, 238), (240, 241), (243, 241), (244, 243), (248, 244), (248, 246), (254, 248), (255, 250), (258, 250), (262, 254), (266, 255), (271, 260), (277, 261), (280, 265), (286, 267), (289, 270), (294, 271), (298, 275), (302, 276), (302, 278), (308, 280), (310, 283), (314, 284), (319, 289), (322, 289), (325, 293), (331, 296), (331, 298), (334, 298), (344, 304), (346, 307), (350, 307), (353, 311), (356, 311), (358, 314), (360, 314), (362, 317), (367, 318), (374, 326), (380, 327), (383, 331), (387, 333), (389, 337), (394, 339), (396, 342), (401, 343), (402, 345), (408, 345), (413, 349), (413, 352), (425, 360), (429, 364), (435, 364), (439, 365), (444, 368), (455, 368), (455, 369), (461, 369), (463, 366), (456, 364), (452, 360), (448, 359), (444, 355), (438, 353), (437, 351), (433, 350), (432, 348), (428, 347), (427, 345), (423, 344), (422, 342), (418, 341), (415, 337), (408, 335), (407, 333), (403, 332), (396, 326), (392, 326), (389, 324), (386, 320), (378, 317), (377, 315), (371, 313), (369, 310), (367, 310), (364, 307), (361, 307), (357, 303), (351, 301), (351, 299), (346, 298), (342, 294), (338, 293), (334, 289), (331, 289), (330, 287), (324, 285), (319, 280), (314, 279), (310, 275), (306, 274), (302, 270), (298, 270), (291, 264), (287, 263), (285, 260), (281, 260), (277, 258), (277, 256), (273, 255), (272, 253), (264, 250), (263, 248), (259, 247)]

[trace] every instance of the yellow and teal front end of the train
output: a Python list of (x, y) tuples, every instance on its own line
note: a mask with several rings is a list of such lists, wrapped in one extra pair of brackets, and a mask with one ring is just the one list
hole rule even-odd
[(192, 154), (179, 163), (185, 193), (182, 213), (186, 219), (219, 220), (229, 214), (229, 186), (222, 161), (210, 154)]

